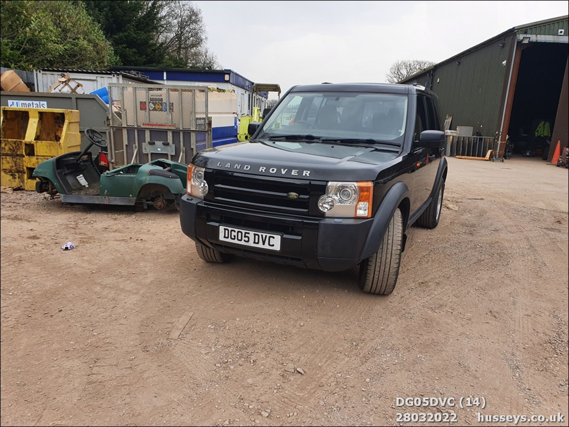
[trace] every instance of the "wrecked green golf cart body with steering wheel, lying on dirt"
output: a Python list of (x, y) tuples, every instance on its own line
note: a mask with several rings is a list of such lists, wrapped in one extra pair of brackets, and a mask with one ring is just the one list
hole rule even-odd
[[(98, 138), (94, 132), (85, 133), (91, 136), (92, 142), (104, 142), (102, 136)], [(36, 191), (59, 193), (61, 201), (68, 204), (178, 208), (179, 199), (185, 193), (187, 165), (159, 159), (146, 164), (128, 164), (101, 174), (89, 148), (40, 163), (32, 173), (38, 178)]]

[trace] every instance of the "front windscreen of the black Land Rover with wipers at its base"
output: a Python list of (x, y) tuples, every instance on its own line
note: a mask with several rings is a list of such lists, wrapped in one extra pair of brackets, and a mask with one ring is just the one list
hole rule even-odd
[(402, 143), (406, 118), (405, 95), (296, 92), (279, 103), (259, 138), (310, 134)]

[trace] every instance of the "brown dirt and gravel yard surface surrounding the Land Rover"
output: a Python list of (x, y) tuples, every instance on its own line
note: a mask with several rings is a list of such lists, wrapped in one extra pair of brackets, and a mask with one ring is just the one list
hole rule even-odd
[[(360, 292), (348, 272), (206, 264), (177, 213), (2, 194), (1, 424), (567, 420), (567, 170), (449, 168), (440, 225), (410, 230), (389, 297)], [(62, 251), (67, 241), (77, 248)], [(485, 409), (396, 406), (463, 396)]]

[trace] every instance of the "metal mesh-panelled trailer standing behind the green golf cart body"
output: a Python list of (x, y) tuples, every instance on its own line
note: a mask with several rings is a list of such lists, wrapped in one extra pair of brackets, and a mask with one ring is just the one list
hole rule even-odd
[(212, 147), (204, 86), (110, 84), (110, 168), (156, 159), (189, 164)]

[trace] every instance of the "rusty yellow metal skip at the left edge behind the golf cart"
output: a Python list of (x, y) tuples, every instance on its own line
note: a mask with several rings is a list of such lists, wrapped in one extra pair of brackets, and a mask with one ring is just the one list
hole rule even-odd
[(81, 151), (79, 111), (1, 107), (0, 180), (3, 186), (35, 190), (42, 161)]

